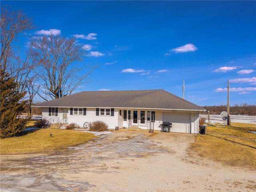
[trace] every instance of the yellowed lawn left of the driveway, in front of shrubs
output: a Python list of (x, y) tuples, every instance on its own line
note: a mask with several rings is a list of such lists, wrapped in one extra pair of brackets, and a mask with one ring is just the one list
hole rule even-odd
[[(52, 134), (52, 136), (50, 136)], [(91, 133), (64, 129), (38, 129), (13, 138), (0, 139), (1, 154), (51, 152), (68, 146), (76, 146), (93, 140)]]

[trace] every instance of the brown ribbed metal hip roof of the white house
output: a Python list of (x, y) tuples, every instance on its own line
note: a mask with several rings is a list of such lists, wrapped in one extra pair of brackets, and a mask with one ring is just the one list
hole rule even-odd
[(205, 110), (165, 90), (84, 91), (35, 104), (33, 107)]

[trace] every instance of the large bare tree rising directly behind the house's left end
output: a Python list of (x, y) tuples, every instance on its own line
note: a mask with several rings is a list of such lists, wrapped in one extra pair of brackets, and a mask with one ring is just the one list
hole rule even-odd
[[(86, 53), (74, 38), (53, 34), (37, 36), (31, 39), (30, 52), (38, 64), (36, 73), (42, 85), (40, 91), (44, 93), (40, 96), (44, 100), (49, 96), (54, 99), (70, 95), (94, 70), (88, 66), (78, 67), (77, 62)], [(78, 76), (80, 71), (84, 75)]]

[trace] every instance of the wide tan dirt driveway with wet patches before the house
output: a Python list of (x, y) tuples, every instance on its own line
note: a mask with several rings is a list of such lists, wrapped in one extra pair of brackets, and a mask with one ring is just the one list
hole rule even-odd
[[(1, 155), (1, 192), (246, 192), (255, 172), (188, 155), (193, 134), (113, 131), (51, 154)], [(203, 147), (203, 144), (202, 144)]]

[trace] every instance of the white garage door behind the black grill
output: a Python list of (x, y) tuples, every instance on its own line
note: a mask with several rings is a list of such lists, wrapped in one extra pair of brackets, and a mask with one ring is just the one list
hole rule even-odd
[(171, 132), (191, 133), (191, 131), (190, 131), (190, 123), (191, 123), (190, 113), (163, 112), (162, 113), (162, 121), (172, 123), (172, 128), (170, 130)]

